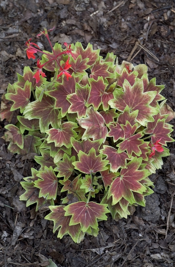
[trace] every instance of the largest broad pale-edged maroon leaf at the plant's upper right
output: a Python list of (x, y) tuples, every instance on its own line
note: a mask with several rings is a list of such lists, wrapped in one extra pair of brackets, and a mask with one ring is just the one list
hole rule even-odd
[(153, 115), (158, 113), (156, 108), (151, 107), (149, 104), (154, 99), (156, 92), (143, 92), (143, 81), (136, 79), (135, 84), (131, 87), (127, 80), (123, 83), (123, 90), (115, 89), (113, 92), (114, 98), (108, 103), (112, 108), (119, 111), (124, 111), (128, 105), (130, 111), (139, 110), (136, 120), (143, 126), (146, 121), (153, 121)]

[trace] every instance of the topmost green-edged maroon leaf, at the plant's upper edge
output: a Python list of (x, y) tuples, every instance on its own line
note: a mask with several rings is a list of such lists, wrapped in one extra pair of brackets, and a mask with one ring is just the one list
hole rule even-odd
[(80, 42), (75, 43), (75, 51), (72, 51), (74, 58), (81, 55), (82, 59), (88, 58), (88, 65), (92, 66), (99, 57), (100, 49), (93, 50), (92, 45), (88, 43), (87, 48), (84, 50)]

